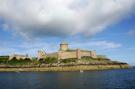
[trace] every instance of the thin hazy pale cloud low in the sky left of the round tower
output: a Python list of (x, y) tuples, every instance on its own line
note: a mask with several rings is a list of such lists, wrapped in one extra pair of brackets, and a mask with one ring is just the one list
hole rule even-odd
[[(10, 45), (7, 45), (10, 44)], [(16, 54), (26, 54), (36, 56), (38, 50), (45, 50), (45, 52), (56, 52), (59, 50), (59, 44), (56, 42), (47, 43), (46, 41), (36, 41), (36, 42), (21, 42), (16, 43), (15, 41), (6, 41), (0, 45), (0, 55), (10, 55)]]

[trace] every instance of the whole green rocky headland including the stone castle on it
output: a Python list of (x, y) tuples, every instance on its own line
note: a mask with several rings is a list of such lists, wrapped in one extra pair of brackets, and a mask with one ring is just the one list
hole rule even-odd
[(12, 54), (0, 56), (0, 71), (90, 71), (125, 69), (131, 66), (113, 61), (93, 50), (70, 49), (66, 42), (60, 44), (58, 52), (38, 51), (37, 57)]

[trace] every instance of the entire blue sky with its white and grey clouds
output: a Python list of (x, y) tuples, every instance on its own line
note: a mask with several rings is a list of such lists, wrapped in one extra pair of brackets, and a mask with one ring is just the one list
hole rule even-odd
[(63, 41), (135, 65), (135, 0), (0, 0), (0, 55), (47, 53)]

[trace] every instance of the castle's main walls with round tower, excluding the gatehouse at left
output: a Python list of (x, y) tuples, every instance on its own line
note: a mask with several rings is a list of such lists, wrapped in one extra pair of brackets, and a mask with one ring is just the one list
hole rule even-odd
[(97, 58), (96, 51), (88, 51), (81, 49), (69, 49), (67, 43), (60, 44), (60, 50), (58, 51), (58, 59), (68, 59), (68, 58), (77, 58), (81, 59), (82, 57), (92, 57)]

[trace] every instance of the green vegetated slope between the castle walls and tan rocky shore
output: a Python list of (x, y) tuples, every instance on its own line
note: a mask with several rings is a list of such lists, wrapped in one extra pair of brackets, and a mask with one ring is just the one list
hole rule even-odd
[(81, 59), (69, 58), (58, 60), (55, 57), (46, 57), (40, 60), (29, 58), (17, 60), (13, 58), (8, 60), (8, 57), (0, 57), (0, 64), (11, 65), (11, 66), (42, 66), (42, 65), (115, 65), (115, 64), (126, 64), (117, 61), (111, 61), (108, 58), (91, 58), (82, 57)]

